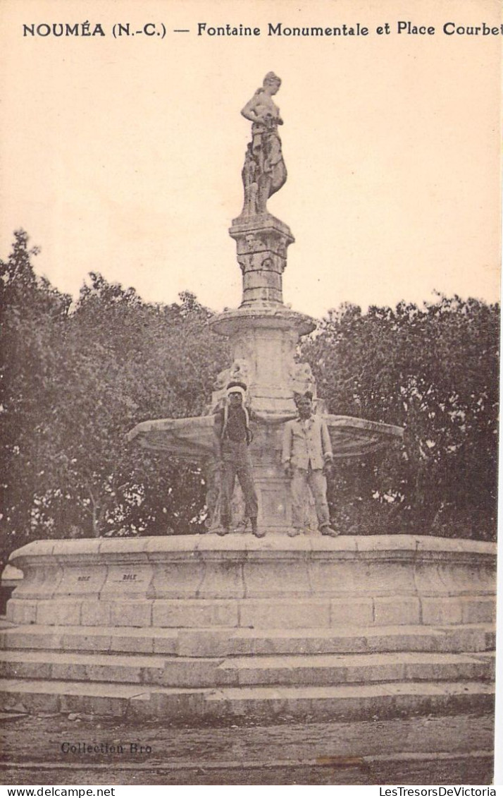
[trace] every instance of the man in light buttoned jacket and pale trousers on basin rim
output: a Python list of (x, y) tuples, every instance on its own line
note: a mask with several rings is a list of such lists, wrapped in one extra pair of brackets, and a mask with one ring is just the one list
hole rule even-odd
[(316, 505), (316, 516), (322, 535), (335, 538), (339, 534), (330, 526), (327, 504), (327, 478), (324, 469), (332, 463), (333, 453), (328, 427), (319, 416), (312, 415), (312, 393), (296, 397), (298, 417), (285, 424), (281, 462), (286, 476), (292, 480), (292, 520), (290, 537), (296, 537), (307, 526), (307, 488)]

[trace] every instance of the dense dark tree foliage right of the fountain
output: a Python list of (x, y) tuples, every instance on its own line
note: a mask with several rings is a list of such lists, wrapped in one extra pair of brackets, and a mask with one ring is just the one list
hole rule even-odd
[(438, 296), (422, 307), (332, 310), (303, 348), (328, 410), (403, 426), (403, 446), (342, 462), (340, 526), (493, 539), (499, 307)]

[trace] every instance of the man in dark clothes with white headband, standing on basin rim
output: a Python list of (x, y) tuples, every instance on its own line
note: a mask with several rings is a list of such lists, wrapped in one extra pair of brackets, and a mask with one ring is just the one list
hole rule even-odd
[(244, 382), (230, 382), (227, 385), (226, 406), (215, 413), (214, 453), (217, 462), (221, 464), (221, 527), (218, 535), (228, 535), (230, 532), (230, 502), (237, 476), (245, 499), (245, 515), (250, 519), (253, 535), (263, 538), (265, 531), (259, 531), (257, 528), (257, 492), (248, 453), (253, 434), (250, 430), (250, 413), (244, 407), (246, 389), (247, 386)]

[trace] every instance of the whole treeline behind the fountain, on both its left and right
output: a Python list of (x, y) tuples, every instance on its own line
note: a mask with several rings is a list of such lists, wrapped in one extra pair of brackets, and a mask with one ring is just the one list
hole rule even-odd
[[(41, 537), (195, 531), (196, 464), (125, 433), (198, 415), (228, 365), (210, 310), (172, 305), (91, 273), (77, 302), (33, 272), (16, 232), (0, 261), (2, 551)], [(339, 461), (336, 525), (359, 533), (495, 534), (499, 307), (438, 297), (422, 307), (344, 305), (301, 348), (331, 413), (402, 425), (402, 444)]]

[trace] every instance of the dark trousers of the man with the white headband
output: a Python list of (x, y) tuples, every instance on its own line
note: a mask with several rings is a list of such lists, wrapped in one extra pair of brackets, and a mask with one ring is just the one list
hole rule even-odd
[(247, 518), (257, 518), (258, 502), (253, 472), (246, 443), (226, 440), (222, 446), (222, 484), (220, 488), (220, 519), (224, 526), (230, 524), (230, 501), (234, 493), (234, 484), (238, 477), (245, 499)]

